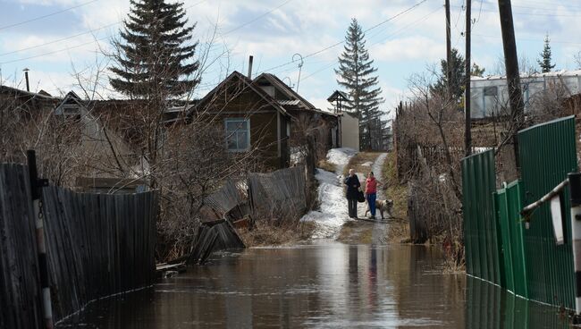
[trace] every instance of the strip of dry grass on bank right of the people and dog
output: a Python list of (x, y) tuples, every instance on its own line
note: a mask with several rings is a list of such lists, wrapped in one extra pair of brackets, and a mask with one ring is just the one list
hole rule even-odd
[(401, 242), (409, 239), (408, 222), (408, 188), (401, 185), (398, 180), (397, 168), (395, 167), (395, 153), (388, 153), (383, 164), (383, 183), (385, 184), (385, 194), (387, 198), (393, 200), (393, 216), (400, 219), (390, 224), (387, 232), (387, 240), (390, 243)]

